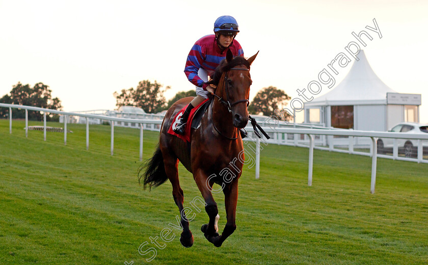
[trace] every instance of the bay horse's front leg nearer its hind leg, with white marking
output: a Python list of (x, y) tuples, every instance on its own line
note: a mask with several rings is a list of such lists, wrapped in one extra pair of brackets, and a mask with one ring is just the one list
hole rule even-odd
[[(202, 170), (197, 170), (194, 173), (194, 178), (196, 181), (196, 184), (198, 186), (199, 191), (202, 194), (202, 197), (204, 197), (205, 200), (205, 211), (208, 214), (209, 221), (208, 224), (204, 224), (201, 227), (202, 232), (204, 233), (205, 237), (210, 241), (210, 237), (218, 237), (219, 233), (216, 231), (217, 221), (218, 221), (218, 214), (219, 210), (217, 208), (217, 203), (212, 197), (211, 193), (211, 184), (207, 184), (207, 177), (206, 174)], [(209, 186), (209, 187), (208, 187)], [(210, 241), (211, 242), (211, 241)]]

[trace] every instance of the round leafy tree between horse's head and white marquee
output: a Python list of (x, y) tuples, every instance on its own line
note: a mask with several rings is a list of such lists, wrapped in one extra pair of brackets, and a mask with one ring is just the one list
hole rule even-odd
[[(286, 101), (290, 99), (291, 97), (285, 94), (283, 90), (270, 86), (257, 92), (248, 107), (248, 111), (254, 114), (262, 113), (266, 116), (274, 115), (274, 111), (278, 110), (281, 112), (287, 104)], [(287, 115), (287, 120), (291, 117), (288, 113), (285, 113), (284, 115)]]

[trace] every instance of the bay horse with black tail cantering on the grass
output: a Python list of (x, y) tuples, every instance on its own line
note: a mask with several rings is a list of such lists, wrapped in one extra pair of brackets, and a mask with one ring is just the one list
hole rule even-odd
[[(258, 52), (257, 52), (258, 54)], [(236, 229), (235, 212), (238, 199), (238, 179), (244, 165), (244, 146), (238, 128), (244, 128), (249, 119), (248, 104), (250, 96), (250, 65), (257, 54), (246, 60), (243, 57), (233, 58), (227, 51), (224, 59), (209, 83), (217, 85), (211, 103), (202, 118), (201, 125), (192, 129), (191, 142), (186, 143), (168, 133), (176, 114), (193, 97), (186, 97), (175, 102), (167, 111), (161, 127), (159, 145), (153, 157), (139, 169), (139, 179), (144, 176), (144, 188), (156, 187), (167, 179), (172, 184), (172, 196), (180, 210), (180, 223), (183, 231), (180, 243), (191, 247), (194, 239), (189, 229), (189, 220), (183, 206), (183, 190), (178, 179), (178, 162), (193, 173), (193, 178), (205, 200), (205, 211), (209, 221), (201, 227), (206, 239), (216, 247)], [(140, 174), (146, 167), (145, 173)], [(228, 174), (221, 172), (229, 171)], [(236, 174), (231, 173), (236, 172)], [(220, 173), (220, 175), (219, 175)], [(213, 183), (222, 187), (225, 196), (227, 223), (221, 235), (218, 233), (219, 219), (217, 203), (212, 197)], [(216, 190), (220, 192), (219, 190)], [(187, 208), (189, 209), (189, 208)]]

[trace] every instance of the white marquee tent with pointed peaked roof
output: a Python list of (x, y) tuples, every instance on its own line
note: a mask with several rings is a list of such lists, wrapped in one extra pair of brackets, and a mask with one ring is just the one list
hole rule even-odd
[(336, 88), (305, 103), (305, 122), (377, 131), (398, 122), (418, 122), (421, 95), (395, 92), (374, 73), (363, 50), (357, 57)]

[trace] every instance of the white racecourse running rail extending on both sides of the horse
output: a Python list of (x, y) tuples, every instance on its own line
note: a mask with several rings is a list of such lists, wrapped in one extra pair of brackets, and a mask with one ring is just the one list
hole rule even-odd
[[(89, 118), (94, 119), (100, 119), (100, 120), (108, 120), (111, 121), (111, 155), (113, 155), (114, 150), (114, 121), (118, 122), (131, 122), (131, 123), (138, 123), (140, 124), (140, 161), (143, 160), (143, 127), (144, 124), (152, 124), (152, 129), (154, 129), (154, 124), (162, 124), (162, 120), (150, 120), (150, 119), (127, 119), (127, 118), (116, 118), (116, 117), (110, 117), (110, 116), (104, 116), (104, 115), (96, 115), (96, 114), (83, 114), (83, 113), (73, 113), (73, 112), (63, 112), (63, 111), (57, 111), (57, 110), (49, 110), (49, 109), (43, 109), (38, 107), (30, 107), (30, 106), (24, 106), (24, 105), (15, 105), (15, 104), (5, 104), (0, 103), (0, 107), (9, 108), (9, 130), (10, 134), (12, 134), (12, 108), (15, 109), (24, 109), (25, 110), (25, 137), (28, 137), (28, 111), (39, 111), (43, 112), (43, 138), (44, 141), (46, 141), (46, 113), (52, 113), (52, 114), (59, 114), (64, 115), (64, 144), (67, 144), (67, 117), (69, 116), (79, 116), (79, 117), (85, 117), (86, 118), (86, 149), (89, 149)], [(249, 126), (246, 128), (249, 133), (253, 132), (254, 129)], [(339, 151), (339, 152), (346, 152), (346, 153), (355, 153), (355, 154), (362, 154), (362, 155), (370, 155), (372, 157), (371, 162), (371, 183), (370, 183), (370, 192), (374, 193), (374, 188), (376, 185), (376, 169), (377, 169), (377, 157), (385, 157), (390, 158), (387, 155), (381, 155), (377, 153), (377, 138), (392, 138), (392, 139), (412, 139), (417, 140), (418, 142), (418, 152), (417, 152), (417, 158), (416, 160), (413, 158), (406, 158), (406, 157), (397, 157), (397, 145), (396, 141), (394, 140), (394, 159), (400, 159), (400, 160), (406, 160), (406, 161), (417, 161), (418, 163), (428, 163), (427, 160), (423, 160), (422, 152), (422, 140), (428, 140), (428, 134), (406, 134), (403, 133), (391, 133), (391, 132), (382, 132), (382, 131), (362, 131), (362, 130), (346, 130), (346, 129), (312, 129), (312, 128), (281, 128), (281, 127), (263, 127), (263, 129), (266, 131), (266, 133), (273, 133), (274, 135), (278, 134), (301, 134), (301, 135), (307, 135), (309, 138), (309, 146), (307, 145), (301, 145), (298, 144), (298, 141), (294, 141), (292, 144), (289, 145), (295, 145), (300, 147), (309, 147), (309, 168), (308, 168), (308, 186), (312, 186), (312, 169), (313, 169), (313, 149), (323, 149), (323, 150), (330, 150), (330, 151)], [(333, 144), (329, 144), (329, 148), (326, 147), (315, 147), (314, 146), (314, 135), (320, 135), (320, 136), (345, 136), (350, 138), (350, 148), (349, 150), (339, 150), (334, 149)], [(370, 145), (370, 153), (363, 153), (363, 152), (354, 152), (352, 140), (354, 137), (368, 137), (371, 139), (371, 145)], [(255, 139), (256, 147), (255, 147), (255, 174), (256, 179), (259, 178), (260, 175), (260, 139), (258, 137), (249, 138), (248, 141), (252, 141)], [(295, 138), (296, 139), (296, 138)], [(247, 140), (247, 139), (246, 139)], [(262, 140), (265, 145), (270, 143), (279, 143), (278, 138), (271, 141), (265, 141)], [(276, 141), (276, 142), (275, 142)], [(282, 143), (284, 144), (284, 143)], [(287, 143), (285, 143), (287, 144)], [(262, 148), (261, 148), (262, 149)]]

